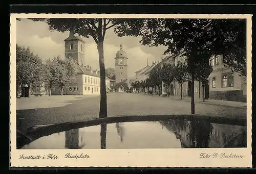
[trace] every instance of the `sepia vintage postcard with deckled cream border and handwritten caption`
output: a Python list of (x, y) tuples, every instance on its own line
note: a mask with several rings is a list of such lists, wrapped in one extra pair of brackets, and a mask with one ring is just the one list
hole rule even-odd
[(10, 14), (11, 167), (251, 167), (251, 14)]

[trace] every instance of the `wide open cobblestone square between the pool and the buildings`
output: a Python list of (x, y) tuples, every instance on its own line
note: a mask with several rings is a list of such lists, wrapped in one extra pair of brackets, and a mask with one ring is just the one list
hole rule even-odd
[[(49, 99), (49, 96), (18, 98), (17, 130), (24, 131), (36, 125), (98, 118), (99, 95), (52, 96), (51, 98), (54, 97), (55, 99)], [(195, 110), (196, 114), (227, 117), (246, 116), (246, 108), (242, 107), (206, 105), (196, 102)], [(190, 102), (188, 100), (136, 93), (108, 94), (108, 117), (117, 115), (189, 114), (190, 112)]]

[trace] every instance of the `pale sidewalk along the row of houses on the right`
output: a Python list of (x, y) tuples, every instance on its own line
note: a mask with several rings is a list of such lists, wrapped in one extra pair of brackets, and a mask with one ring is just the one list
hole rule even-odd
[[(140, 93), (143, 94), (144, 93)], [(148, 95), (148, 94), (146, 94)], [(177, 101), (184, 101), (184, 102), (191, 102), (191, 97), (182, 97), (183, 99), (180, 99), (180, 95), (170, 95), (169, 97), (165, 96), (163, 97), (162, 95), (150, 95), (152, 97), (162, 97), (162, 98), (169, 98), (170, 100), (177, 100)], [(243, 102), (233, 102), (233, 101), (223, 101), (223, 100), (205, 100), (203, 102), (202, 98), (195, 98), (195, 103), (200, 103), (204, 105), (215, 105), (215, 106), (224, 106), (224, 107), (231, 107), (231, 108), (241, 108), (241, 109), (246, 109), (246, 103)]]

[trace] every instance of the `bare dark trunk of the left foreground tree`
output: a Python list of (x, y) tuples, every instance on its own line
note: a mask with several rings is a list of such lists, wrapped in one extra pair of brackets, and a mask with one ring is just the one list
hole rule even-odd
[(100, 69), (100, 108), (99, 118), (108, 116), (108, 109), (106, 105), (106, 84), (105, 84), (105, 64), (104, 64), (104, 48), (103, 39), (97, 44), (99, 54), (99, 69)]

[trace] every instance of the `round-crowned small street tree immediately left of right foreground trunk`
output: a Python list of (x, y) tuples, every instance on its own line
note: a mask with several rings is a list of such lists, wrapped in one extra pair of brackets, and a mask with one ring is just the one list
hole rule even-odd
[(182, 84), (188, 80), (187, 65), (185, 62), (178, 62), (177, 65), (172, 64), (172, 74), (176, 82), (180, 85), (180, 94), (182, 99)]

